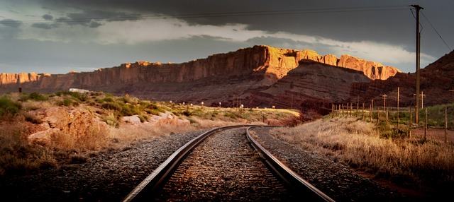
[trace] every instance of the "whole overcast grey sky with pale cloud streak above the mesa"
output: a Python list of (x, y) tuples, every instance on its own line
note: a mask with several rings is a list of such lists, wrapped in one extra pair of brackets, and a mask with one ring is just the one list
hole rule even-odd
[[(0, 73), (181, 63), (265, 44), (415, 71), (454, 48), (454, 1), (0, 0)], [(441, 36), (441, 37), (440, 37)]]

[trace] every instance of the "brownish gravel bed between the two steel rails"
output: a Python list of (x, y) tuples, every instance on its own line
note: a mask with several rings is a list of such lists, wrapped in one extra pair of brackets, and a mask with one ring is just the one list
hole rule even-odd
[(245, 129), (206, 138), (155, 195), (158, 201), (296, 201), (250, 147)]

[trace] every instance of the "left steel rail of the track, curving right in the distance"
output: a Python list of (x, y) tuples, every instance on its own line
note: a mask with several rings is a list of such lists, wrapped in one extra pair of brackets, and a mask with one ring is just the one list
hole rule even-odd
[(170, 155), (165, 162), (156, 168), (148, 177), (146, 177), (138, 186), (135, 186), (135, 189), (131, 191), (125, 198), (123, 198), (123, 202), (128, 201), (149, 201), (150, 199), (148, 196), (153, 194), (153, 191), (157, 189), (157, 187), (162, 185), (162, 182), (165, 181), (167, 177), (172, 175), (172, 171), (178, 167), (179, 163), (184, 160), (184, 157), (193, 150), (199, 143), (204, 141), (205, 138), (214, 134), (218, 131), (222, 131), (225, 129), (235, 129), (235, 128), (242, 128), (251, 125), (236, 125), (236, 126), (225, 126), (216, 129), (211, 129), (202, 133), (201, 135), (197, 136), (196, 138), (192, 139), (181, 148), (176, 150), (172, 155)]

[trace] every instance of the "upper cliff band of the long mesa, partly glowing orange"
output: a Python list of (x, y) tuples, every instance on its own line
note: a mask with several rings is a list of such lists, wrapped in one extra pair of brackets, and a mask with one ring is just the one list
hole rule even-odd
[[(236, 52), (214, 54), (206, 59), (197, 59), (182, 64), (160, 64), (138, 61), (93, 72), (55, 74), (48, 73), (0, 73), (0, 87), (23, 87), (33, 90), (88, 88), (99, 86), (128, 85), (134, 83), (182, 83), (214, 76), (252, 76), (272, 84), (296, 68), (301, 59), (319, 61), (323, 64), (342, 66), (362, 71), (374, 79), (387, 79), (399, 70), (365, 61), (348, 55), (340, 59), (328, 54), (321, 56), (312, 50), (277, 49), (254, 46)], [(116, 90), (115, 86), (111, 86)]]

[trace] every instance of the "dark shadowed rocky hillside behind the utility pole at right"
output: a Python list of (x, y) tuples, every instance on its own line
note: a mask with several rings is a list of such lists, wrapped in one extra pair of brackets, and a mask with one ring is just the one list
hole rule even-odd
[[(423, 92), (423, 106), (452, 103), (453, 95), (449, 90), (454, 89), (454, 51), (429, 64), (420, 71), (420, 90)], [(415, 105), (416, 73), (397, 73), (386, 81), (371, 81), (369, 83), (353, 83), (354, 92), (350, 101), (360, 97), (360, 102), (370, 103), (370, 100), (380, 100), (381, 95), (387, 95), (387, 106), (397, 106), (397, 88), (399, 88), (399, 106)], [(421, 102), (421, 100), (420, 100)]]

